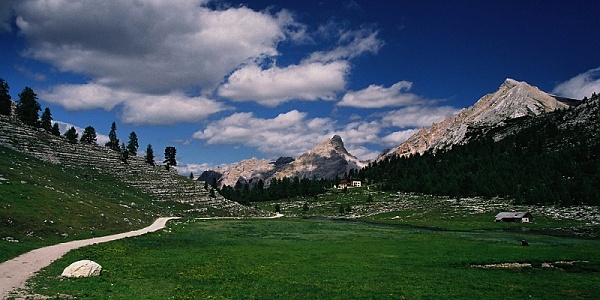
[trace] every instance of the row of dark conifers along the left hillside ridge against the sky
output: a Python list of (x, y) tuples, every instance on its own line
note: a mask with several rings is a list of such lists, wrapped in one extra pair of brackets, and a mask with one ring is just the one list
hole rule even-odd
[[(38, 102), (37, 94), (30, 87), (25, 87), (18, 95), (19, 99), (16, 101), (14, 112), (13, 101), (9, 91), (10, 86), (8, 83), (0, 78), (0, 115), (10, 116), (14, 113), (17, 119), (25, 125), (41, 128), (55, 136), (61, 136), (58, 123), (55, 122), (53, 124), (50, 108), (46, 107), (40, 118), (41, 105)], [(63, 137), (72, 144), (82, 143), (92, 145), (97, 144), (98, 140), (96, 129), (92, 126), (87, 126), (84, 129), (81, 138), (77, 133), (77, 129), (71, 126), (71, 128), (65, 131)], [(117, 137), (117, 125), (115, 122), (112, 122), (108, 137), (109, 141), (105, 144), (105, 147), (120, 153), (122, 162), (127, 163), (130, 156), (137, 156), (139, 141), (134, 131), (129, 134), (129, 141), (126, 145), (124, 142), (120, 142)], [(165, 160), (163, 163), (167, 169), (170, 166), (177, 165), (176, 153), (177, 150), (175, 147), (167, 146), (165, 148)], [(148, 164), (155, 165), (154, 150), (151, 144), (148, 144), (146, 148), (145, 160)]]

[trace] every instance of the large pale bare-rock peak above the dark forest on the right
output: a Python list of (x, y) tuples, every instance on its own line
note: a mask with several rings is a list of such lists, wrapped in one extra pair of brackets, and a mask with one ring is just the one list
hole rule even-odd
[(495, 93), (483, 96), (475, 105), (434, 123), (430, 128), (421, 128), (404, 143), (380, 154), (377, 161), (392, 155), (408, 156), (451, 149), (453, 145), (468, 143), (473, 129), (485, 132), (482, 129), (503, 126), (512, 119), (568, 108), (570, 100), (508, 78)]

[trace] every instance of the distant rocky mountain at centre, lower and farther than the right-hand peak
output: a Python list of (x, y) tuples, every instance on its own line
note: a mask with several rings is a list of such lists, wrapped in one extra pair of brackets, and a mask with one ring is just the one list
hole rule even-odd
[(237, 164), (219, 167), (204, 172), (199, 180), (211, 182), (217, 180), (219, 186), (235, 186), (240, 183), (256, 183), (263, 180), (268, 184), (272, 178), (335, 178), (351, 169), (360, 169), (367, 165), (350, 154), (344, 147), (339, 135), (319, 143), (297, 158), (280, 157), (275, 162), (265, 159), (247, 159)]

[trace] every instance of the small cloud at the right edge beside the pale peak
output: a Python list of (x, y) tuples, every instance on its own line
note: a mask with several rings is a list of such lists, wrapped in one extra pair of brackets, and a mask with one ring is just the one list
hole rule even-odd
[(600, 67), (560, 83), (552, 90), (552, 93), (574, 99), (589, 98), (592, 93), (600, 93)]

